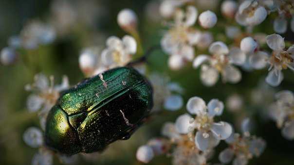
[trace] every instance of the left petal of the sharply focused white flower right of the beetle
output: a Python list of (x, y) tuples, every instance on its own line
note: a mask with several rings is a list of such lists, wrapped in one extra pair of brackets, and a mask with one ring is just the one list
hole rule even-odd
[(182, 134), (188, 133), (189, 127), (193, 126), (190, 124), (191, 118), (189, 114), (180, 115), (175, 122), (176, 131)]

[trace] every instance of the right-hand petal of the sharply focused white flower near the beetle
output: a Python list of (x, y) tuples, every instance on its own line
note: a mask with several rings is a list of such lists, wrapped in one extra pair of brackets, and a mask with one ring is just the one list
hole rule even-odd
[(213, 135), (219, 139), (224, 140), (232, 134), (232, 126), (227, 122), (213, 123), (211, 127)]

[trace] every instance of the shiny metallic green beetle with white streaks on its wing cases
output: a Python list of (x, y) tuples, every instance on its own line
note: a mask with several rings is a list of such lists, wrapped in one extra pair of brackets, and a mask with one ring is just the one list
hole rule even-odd
[(58, 152), (102, 151), (129, 136), (153, 106), (152, 88), (132, 67), (114, 68), (65, 91), (50, 110), (45, 143)]

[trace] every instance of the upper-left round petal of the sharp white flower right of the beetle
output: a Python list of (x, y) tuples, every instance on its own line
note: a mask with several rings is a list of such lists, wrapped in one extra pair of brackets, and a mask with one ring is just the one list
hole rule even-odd
[(188, 100), (186, 105), (187, 111), (190, 114), (199, 114), (206, 111), (205, 101), (199, 97), (192, 97)]

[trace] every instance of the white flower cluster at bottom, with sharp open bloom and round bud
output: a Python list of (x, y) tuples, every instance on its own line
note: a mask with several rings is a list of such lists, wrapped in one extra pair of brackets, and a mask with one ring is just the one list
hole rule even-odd
[(195, 118), (184, 114), (175, 123), (165, 123), (162, 134), (168, 139), (151, 139), (147, 145), (138, 148), (139, 161), (148, 163), (154, 155), (170, 153), (174, 165), (205, 165), (220, 140), (231, 136), (229, 123), (214, 122), (214, 116), (221, 115), (224, 108), (218, 99), (212, 99), (206, 106), (203, 99), (193, 97), (188, 100), (186, 108), (190, 114), (196, 115)]

